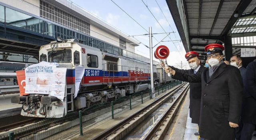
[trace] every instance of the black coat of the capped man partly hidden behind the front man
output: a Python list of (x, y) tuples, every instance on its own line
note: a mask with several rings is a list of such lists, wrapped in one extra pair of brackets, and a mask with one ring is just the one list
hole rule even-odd
[[(173, 66), (170, 66), (175, 71), (179, 71), (186, 74), (194, 74), (194, 70), (180, 70), (178, 68), (175, 68)], [(204, 70), (204, 66), (200, 66), (198, 71), (196, 73), (201, 73)], [(189, 116), (192, 119), (192, 123), (199, 124), (200, 120), (200, 104), (201, 104), (201, 94), (202, 94), (202, 86), (201, 83), (189, 83), (190, 87), (190, 102), (189, 102)]]

